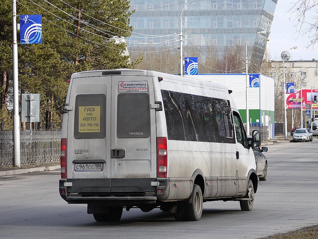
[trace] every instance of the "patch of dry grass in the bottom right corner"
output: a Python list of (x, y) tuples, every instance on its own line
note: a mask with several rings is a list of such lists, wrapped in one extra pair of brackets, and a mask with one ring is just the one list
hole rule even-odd
[(261, 239), (318, 239), (318, 225), (284, 234), (276, 234)]

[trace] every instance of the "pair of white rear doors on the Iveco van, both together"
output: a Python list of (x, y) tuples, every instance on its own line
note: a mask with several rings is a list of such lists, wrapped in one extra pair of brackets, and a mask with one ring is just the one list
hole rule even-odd
[(72, 191), (155, 191), (150, 186), (156, 179), (152, 77), (83, 77), (73, 79), (71, 87), (67, 175), (74, 179)]

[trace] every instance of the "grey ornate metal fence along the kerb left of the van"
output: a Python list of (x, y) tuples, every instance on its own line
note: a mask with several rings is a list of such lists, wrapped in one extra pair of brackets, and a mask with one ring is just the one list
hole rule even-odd
[[(21, 165), (59, 162), (60, 130), (20, 132)], [(13, 165), (13, 135), (10, 130), (0, 131), (0, 167)]]

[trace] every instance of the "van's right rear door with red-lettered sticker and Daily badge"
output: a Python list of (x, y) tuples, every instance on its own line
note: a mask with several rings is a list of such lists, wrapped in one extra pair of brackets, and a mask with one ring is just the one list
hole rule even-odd
[(150, 186), (149, 178), (155, 180), (157, 177), (152, 77), (113, 76), (112, 89), (112, 191), (123, 191), (125, 184)]

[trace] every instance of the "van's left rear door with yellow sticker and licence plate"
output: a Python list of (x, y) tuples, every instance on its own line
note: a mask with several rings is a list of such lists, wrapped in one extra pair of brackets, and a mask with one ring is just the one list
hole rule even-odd
[[(111, 178), (111, 82), (111, 76), (73, 79), (67, 124), (67, 177), (108, 178), (100, 188), (105, 191), (110, 191)], [(94, 180), (77, 182), (75, 187), (80, 184), (89, 192)]]

